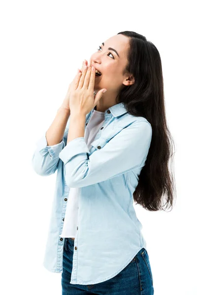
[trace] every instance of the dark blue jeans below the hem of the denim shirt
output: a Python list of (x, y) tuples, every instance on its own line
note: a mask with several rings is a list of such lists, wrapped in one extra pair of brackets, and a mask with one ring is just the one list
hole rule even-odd
[(115, 277), (95, 284), (70, 284), (74, 240), (65, 238), (63, 253), (62, 295), (153, 295), (153, 276), (149, 256), (142, 248)]

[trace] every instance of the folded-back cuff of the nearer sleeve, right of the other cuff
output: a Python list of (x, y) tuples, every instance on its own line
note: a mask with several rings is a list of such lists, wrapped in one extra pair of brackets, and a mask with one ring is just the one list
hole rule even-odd
[(77, 137), (70, 141), (60, 152), (60, 159), (66, 164), (73, 156), (81, 153), (90, 153), (84, 137)]

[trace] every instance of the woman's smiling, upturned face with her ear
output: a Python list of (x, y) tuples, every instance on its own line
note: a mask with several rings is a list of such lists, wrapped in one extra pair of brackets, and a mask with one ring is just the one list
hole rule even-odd
[(115, 35), (99, 46), (90, 58), (90, 64), (101, 72), (101, 76), (95, 77), (94, 90), (106, 88), (107, 95), (116, 95), (124, 85), (131, 84), (127, 81), (131, 74), (122, 74), (128, 63), (129, 38), (121, 34)]

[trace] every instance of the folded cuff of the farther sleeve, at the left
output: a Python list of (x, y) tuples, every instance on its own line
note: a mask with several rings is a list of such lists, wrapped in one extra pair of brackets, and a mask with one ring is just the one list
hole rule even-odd
[(65, 147), (64, 137), (62, 141), (53, 146), (47, 146), (46, 133), (36, 142), (36, 146), (42, 156), (49, 152), (51, 159), (59, 157), (59, 153)]

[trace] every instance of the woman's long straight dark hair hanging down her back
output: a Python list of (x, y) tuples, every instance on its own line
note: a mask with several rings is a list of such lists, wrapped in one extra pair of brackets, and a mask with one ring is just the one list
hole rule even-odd
[(116, 102), (124, 103), (129, 114), (146, 118), (152, 126), (151, 145), (133, 199), (149, 211), (164, 210), (166, 204), (173, 207), (176, 188), (172, 163), (171, 171), (168, 169), (174, 142), (165, 116), (161, 57), (146, 37), (133, 31), (118, 34), (129, 37), (128, 64), (123, 74), (131, 73), (135, 82), (120, 90)]

